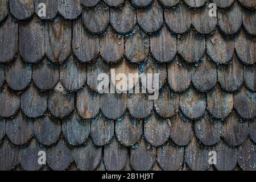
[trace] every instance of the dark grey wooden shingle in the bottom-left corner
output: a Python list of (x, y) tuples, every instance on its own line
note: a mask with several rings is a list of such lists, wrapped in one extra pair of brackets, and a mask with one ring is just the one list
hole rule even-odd
[(18, 150), (9, 140), (3, 140), (0, 145), (0, 170), (10, 171), (18, 164)]

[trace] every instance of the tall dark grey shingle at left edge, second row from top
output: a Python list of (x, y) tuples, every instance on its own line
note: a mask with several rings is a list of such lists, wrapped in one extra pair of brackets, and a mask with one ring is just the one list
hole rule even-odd
[(13, 16), (8, 18), (0, 25), (0, 63), (7, 63), (14, 59), (18, 51), (18, 23)]

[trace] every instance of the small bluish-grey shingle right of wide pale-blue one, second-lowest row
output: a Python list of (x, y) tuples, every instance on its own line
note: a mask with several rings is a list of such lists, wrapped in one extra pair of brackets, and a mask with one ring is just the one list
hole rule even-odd
[(109, 143), (114, 135), (114, 122), (110, 121), (102, 114), (96, 119), (92, 119), (90, 126), (90, 136), (92, 137), (93, 143), (97, 146), (105, 146)]

